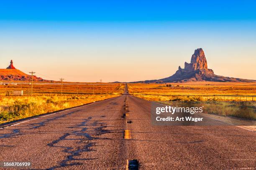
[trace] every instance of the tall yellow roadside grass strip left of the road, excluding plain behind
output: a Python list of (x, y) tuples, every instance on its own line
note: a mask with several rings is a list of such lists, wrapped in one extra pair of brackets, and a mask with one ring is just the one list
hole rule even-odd
[(118, 94), (2, 96), (0, 123), (105, 100)]

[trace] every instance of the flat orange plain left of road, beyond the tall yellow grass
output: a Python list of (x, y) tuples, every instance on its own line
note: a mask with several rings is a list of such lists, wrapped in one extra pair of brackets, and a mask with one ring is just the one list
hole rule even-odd
[(0, 97), (9, 95), (99, 95), (121, 93), (121, 84), (103, 83), (33, 83), (0, 85)]

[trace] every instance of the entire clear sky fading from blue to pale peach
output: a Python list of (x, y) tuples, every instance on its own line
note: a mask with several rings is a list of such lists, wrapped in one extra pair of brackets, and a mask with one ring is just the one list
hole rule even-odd
[(0, 2), (0, 68), (48, 80), (160, 79), (199, 47), (215, 74), (256, 80), (256, 0)]

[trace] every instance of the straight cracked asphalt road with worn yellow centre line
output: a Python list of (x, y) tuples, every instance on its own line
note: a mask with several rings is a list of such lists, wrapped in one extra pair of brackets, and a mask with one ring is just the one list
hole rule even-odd
[(0, 162), (31, 162), (29, 168), (40, 170), (122, 170), (127, 160), (137, 160), (140, 170), (256, 168), (255, 132), (153, 126), (150, 109), (151, 102), (125, 89), (118, 97), (19, 122), (0, 129)]

